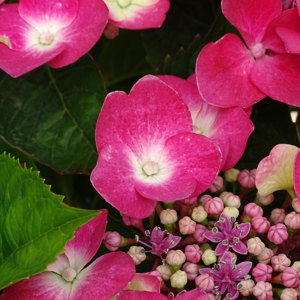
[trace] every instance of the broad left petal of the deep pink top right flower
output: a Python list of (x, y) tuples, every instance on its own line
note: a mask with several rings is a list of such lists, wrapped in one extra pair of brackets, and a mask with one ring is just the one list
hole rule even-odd
[(265, 97), (250, 81), (254, 58), (242, 41), (226, 34), (207, 44), (196, 62), (197, 84), (203, 99), (220, 107), (249, 107)]

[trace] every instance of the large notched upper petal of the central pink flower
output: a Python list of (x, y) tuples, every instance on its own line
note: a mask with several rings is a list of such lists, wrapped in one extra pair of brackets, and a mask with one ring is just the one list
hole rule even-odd
[(121, 140), (137, 161), (158, 161), (169, 137), (192, 131), (187, 105), (168, 85), (155, 76), (140, 79), (127, 96), (115, 91), (107, 95), (96, 126), (98, 152)]

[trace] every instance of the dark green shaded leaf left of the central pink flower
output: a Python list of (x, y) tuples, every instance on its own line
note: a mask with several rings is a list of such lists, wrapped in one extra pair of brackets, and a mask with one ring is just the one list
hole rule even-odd
[(88, 56), (59, 69), (46, 64), (17, 79), (1, 72), (0, 136), (60, 173), (90, 173), (105, 95)]

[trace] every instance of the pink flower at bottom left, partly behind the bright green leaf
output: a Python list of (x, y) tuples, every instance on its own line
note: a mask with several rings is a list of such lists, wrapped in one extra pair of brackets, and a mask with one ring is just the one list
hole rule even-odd
[[(124, 252), (107, 253), (83, 267), (97, 252), (107, 223), (107, 210), (81, 226), (65, 253), (47, 271), (21, 280), (1, 294), (6, 300), (105, 300), (124, 289), (134, 277), (132, 258)], [(122, 268), (120, 268), (122, 262)]]

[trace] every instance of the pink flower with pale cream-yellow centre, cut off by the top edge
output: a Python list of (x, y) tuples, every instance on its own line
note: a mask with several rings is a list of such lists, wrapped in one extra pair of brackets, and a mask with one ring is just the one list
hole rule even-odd
[(103, 0), (109, 22), (126, 29), (157, 28), (163, 24), (170, 8), (169, 0)]

